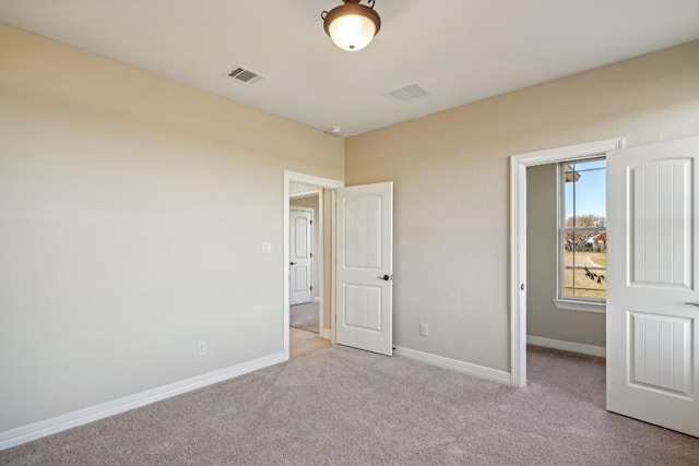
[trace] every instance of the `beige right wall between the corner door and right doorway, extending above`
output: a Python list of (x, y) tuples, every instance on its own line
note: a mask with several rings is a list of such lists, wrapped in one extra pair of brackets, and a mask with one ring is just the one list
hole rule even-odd
[(694, 41), (346, 140), (347, 186), (394, 181), (394, 343), (509, 371), (509, 157), (698, 134), (697, 57)]

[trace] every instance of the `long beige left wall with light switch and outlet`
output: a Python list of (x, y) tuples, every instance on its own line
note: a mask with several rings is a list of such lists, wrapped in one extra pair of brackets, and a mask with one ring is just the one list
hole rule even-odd
[(3, 25), (0, 70), (0, 432), (280, 354), (283, 172), (343, 141)]

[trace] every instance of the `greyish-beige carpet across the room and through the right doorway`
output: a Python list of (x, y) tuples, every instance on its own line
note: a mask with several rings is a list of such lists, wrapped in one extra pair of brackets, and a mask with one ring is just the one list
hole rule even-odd
[(0, 452), (2, 465), (697, 465), (604, 410), (604, 363), (530, 351), (512, 389), (331, 346)]

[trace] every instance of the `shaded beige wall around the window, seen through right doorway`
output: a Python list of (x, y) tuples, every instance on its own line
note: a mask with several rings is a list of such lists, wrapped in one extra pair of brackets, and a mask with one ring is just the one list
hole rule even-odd
[(556, 164), (526, 169), (526, 334), (605, 345), (605, 315), (557, 309), (558, 189)]

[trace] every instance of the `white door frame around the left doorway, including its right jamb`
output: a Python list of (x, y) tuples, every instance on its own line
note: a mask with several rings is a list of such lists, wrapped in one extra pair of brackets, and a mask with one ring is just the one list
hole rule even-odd
[[(329, 189), (329, 190), (336, 190), (337, 188), (342, 188), (345, 186), (344, 181), (341, 180), (333, 180), (331, 178), (321, 178), (321, 177), (317, 177), (313, 175), (307, 175), (307, 174), (300, 174), (300, 172), (296, 172), (296, 171), (289, 171), (289, 170), (284, 170), (284, 184), (283, 184), (283, 225), (284, 225), (284, 238), (283, 238), (283, 262), (281, 264), (282, 266), (282, 277), (283, 277), (283, 284), (284, 284), (284, 292), (283, 292), (283, 302), (284, 302), (284, 318), (283, 318), (283, 328), (282, 328), (282, 350), (284, 354), (284, 360), (288, 360), (289, 358), (289, 332), (288, 332), (288, 323), (289, 323), (289, 267), (288, 267), (288, 263), (289, 263), (289, 239), (291, 239), (291, 232), (289, 232), (289, 210), (291, 210), (291, 193), (289, 193), (289, 188), (291, 188), (291, 183), (296, 182), (296, 183), (300, 183), (300, 184), (307, 184), (307, 186), (311, 186), (315, 188), (322, 188), (322, 189)], [(334, 198), (334, 192), (333, 192), (333, 198)], [(319, 193), (319, 198), (318, 198), (318, 222), (319, 222), (319, 235), (324, 235), (323, 232), (323, 223), (324, 223), (324, 217), (323, 217), (323, 203), (321, 203), (321, 201), (324, 201), (322, 192)], [(334, 202), (332, 203), (334, 205)], [(332, 227), (332, 236), (333, 236), (333, 248), (332, 248), (332, 252), (331, 252), (331, 264), (334, 267), (335, 266), (335, 250), (334, 250), (334, 244), (335, 244), (335, 228), (334, 228), (334, 223), (335, 223), (335, 210), (332, 210), (332, 223), (331, 225), (333, 225)], [(325, 262), (324, 260), (321, 261), (321, 263), (319, 264), (319, 283), (323, 284), (325, 280), (325, 276), (324, 276), (324, 266), (323, 263)], [(334, 287), (334, 277), (335, 274), (333, 274), (333, 282), (331, 283), (331, 288)], [(320, 290), (320, 309), (321, 309), (321, 313), (323, 313), (324, 311), (324, 301), (325, 301), (325, 289), (324, 286), (321, 287)], [(331, 340), (334, 343), (335, 342), (335, 335), (334, 335), (334, 325), (333, 325), (333, 318), (335, 314), (335, 302), (334, 302), (334, 298), (335, 298), (335, 294), (332, 292), (331, 294), (331, 303), (330, 303), (330, 325), (331, 325)], [(319, 322), (319, 324), (324, 325), (324, 322)], [(324, 328), (320, 328), (321, 335)]]

